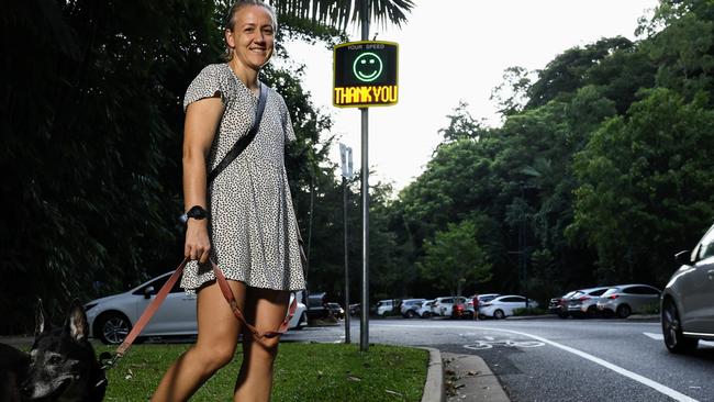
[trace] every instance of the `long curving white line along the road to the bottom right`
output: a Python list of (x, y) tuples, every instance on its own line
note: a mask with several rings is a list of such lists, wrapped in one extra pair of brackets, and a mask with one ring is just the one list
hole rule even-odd
[[(379, 326), (395, 326), (395, 327), (404, 327), (404, 328), (422, 327), (422, 328), (429, 328), (429, 330), (433, 330), (433, 328), (434, 328), (433, 326), (427, 326), (427, 325), (395, 325), (395, 324), (379, 324)], [(445, 327), (446, 327), (446, 326), (439, 326), (440, 330), (443, 330), (443, 328), (445, 328)], [(472, 331), (472, 330), (477, 330), (477, 328), (475, 328), (475, 327), (472, 327), (472, 326), (457, 326), (457, 325), (451, 326), (451, 325), (448, 325), (448, 327), (449, 327), (449, 328), (457, 328), (457, 330), (471, 330), (471, 331)], [(654, 390), (656, 390), (656, 391), (658, 391), (658, 392), (660, 392), (660, 393), (663, 393), (663, 394), (666, 394), (667, 397), (669, 397), (669, 398), (671, 398), (671, 399), (673, 399), (673, 400), (676, 400), (676, 401), (681, 401), (681, 402), (699, 402), (698, 400), (695, 400), (695, 399), (693, 399), (693, 398), (691, 398), (691, 397), (688, 397), (688, 395), (685, 395), (685, 394), (683, 394), (683, 393), (681, 393), (681, 392), (679, 392), (679, 391), (676, 391), (676, 390), (673, 390), (673, 389), (671, 389), (671, 388), (669, 388), (669, 387), (662, 386), (661, 383), (656, 382), (656, 381), (654, 381), (654, 380), (650, 380), (650, 379), (648, 379), (647, 377), (643, 377), (643, 376), (640, 376), (640, 375), (638, 375), (638, 373), (636, 373), (636, 372), (632, 372), (632, 371), (629, 371), (629, 370), (627, 370), (627, 369), (625, 369), (625, 368), (622, 368), (622, 367), (620, 367), (620, 366), (613, 365), (613, 364), (610, 362), (610, 361), (603, 360), (603, 359), (601, 359), (601, 358), (599, 358), (599, 357), (592, 356), (592, 355), (590, 355), (590, 354), (588, 354), (588, 353), (584, 353), (584, 351), (582, 351), (582, 350), (578, 350), (578, 349), (572, 348), (572, 347), (570, 347), (570, 346), (561, 345), (561, 344), (559, 344), (559, 343), (557, 343), (557, 342), (548, 340), (548, 339), (546, 339), (546, 338), (544, 338), (544, 337), (540, 337), (540, 336), (537, 336), (537, 335), (531, 335), (531, 334), (527, 334), (527, 333), (524, 333), (524, 332), (512, 331), (512, 330), (489, 328), (489, 327), (483, 327), (483, 326), (479, 326), (478, 330), (483, 330), (483, 331), (498, 331), (498, 332), (507, 332), (507, 333), (511, 333), (511, 334), (516, 334), (516, 335), (527, 336), (527, 337), (529, 337), (529, 338), (533, 338), (533, 339), (536, 339), (536, 340), (544, 342), (544, 343), (546, 343), (546, 344), (548, 344), (548, 345), (550, 345), (550, 346), (557, 347), (557, 348), (559, 348), (559, 349), (562, 349), (562, 350), (569, 351), (569, 353), (571, 353), (571, 354), (573, 354), (573, 355), (580, 356), (580, 357), (582, 357), (583, 359), (590, 360), (590, 361), (592, 361), (592, 362), (594, 362), (594, 364), (596, 364), (596, 365), (600, 365), (600, 366), (603, 366), (603, 367), (605, 367), (605, 368), (609, 368), (609, 369), (615, 371), (615, 372), (618, 373), (618, 375), (625, 376), (625, 377), (627, 377), (627, 378), (629, 378), (629, 379), (633, 379), (633, 380), (635, 380), (635, 381), (637, 381), (637, 382), (639, 382), (639, 383), (642, 383), (642, 384), (644, 384), (644, 386), (647, 386), (647, 387), (649, 387), (649, 388), (651, 388), (651, 389), (654, 389)]]

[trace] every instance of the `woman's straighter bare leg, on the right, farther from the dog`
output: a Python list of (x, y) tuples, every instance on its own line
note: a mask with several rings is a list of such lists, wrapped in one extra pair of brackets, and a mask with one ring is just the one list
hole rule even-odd
[[(246, 315), (259, 332), (277, 331), (288, 311), (290, 292), (248, 288)], [(235, 383), (234, 401), (267, 402), (272, 388), (272, 362), (279, 337), (263, 338), (263, 345), (246, 331), (243, 335), (243, 365)]]

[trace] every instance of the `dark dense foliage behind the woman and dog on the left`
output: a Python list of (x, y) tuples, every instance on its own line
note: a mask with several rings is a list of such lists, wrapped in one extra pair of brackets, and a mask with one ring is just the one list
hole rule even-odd
[[(36, 298), (64, 311), (70, 299), (125, 290), (179, 263), (181, 100), (198, 71), (220, 62), (228, 3), (7, 4), (0, 18), (7, 211), (0, 334), (29, 331)], [(344, 41), (342, 29), (364, 12), (344, 1), (314, 1), (306, 11), (304, 2), (271, 3), (280, 12), (278, 43)], [(371, 18), (403, 23), (412, 7), (410, 0), (373, 1)], [(302, 88), (302, 67), (285, 47), (277, 51), (263, 79), (282, 93), (298, 135), (287, 165), (303, 237), (312, 250), (339, 250), (332, 243), (342, 238), (342, 225), (332, 214), (342, 202), (314, 202), (322, 194), (342, 200), (327, 160), (331, 121)], [(312, 254), (327, 268), (343, 259)]]

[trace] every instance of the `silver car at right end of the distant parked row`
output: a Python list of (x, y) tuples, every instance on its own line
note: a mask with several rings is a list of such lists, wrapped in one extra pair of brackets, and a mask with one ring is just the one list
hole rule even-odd
[(648, 284), (620, 284), (607, 289), (598, 300), (598, 311), (626, 319), (632, 313), (659, 303), (661, 291)]

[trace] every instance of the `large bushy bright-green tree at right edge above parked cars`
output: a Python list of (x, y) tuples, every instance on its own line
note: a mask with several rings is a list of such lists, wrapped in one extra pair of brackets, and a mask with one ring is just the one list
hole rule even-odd
[(671, 256), (714, 219), (714, 112), (655, 89), (627, 116), (609, 120), (576, 157), (581, 186), (570, 234), (598, 249), (603, 280), (657, 281)]

